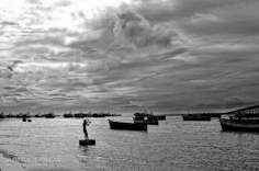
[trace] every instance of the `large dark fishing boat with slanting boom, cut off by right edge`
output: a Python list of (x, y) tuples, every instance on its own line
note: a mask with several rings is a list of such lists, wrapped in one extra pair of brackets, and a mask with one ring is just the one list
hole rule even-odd
[(259, 132), (259, 105), (225, 113), (219, 117), (223, 130)]

